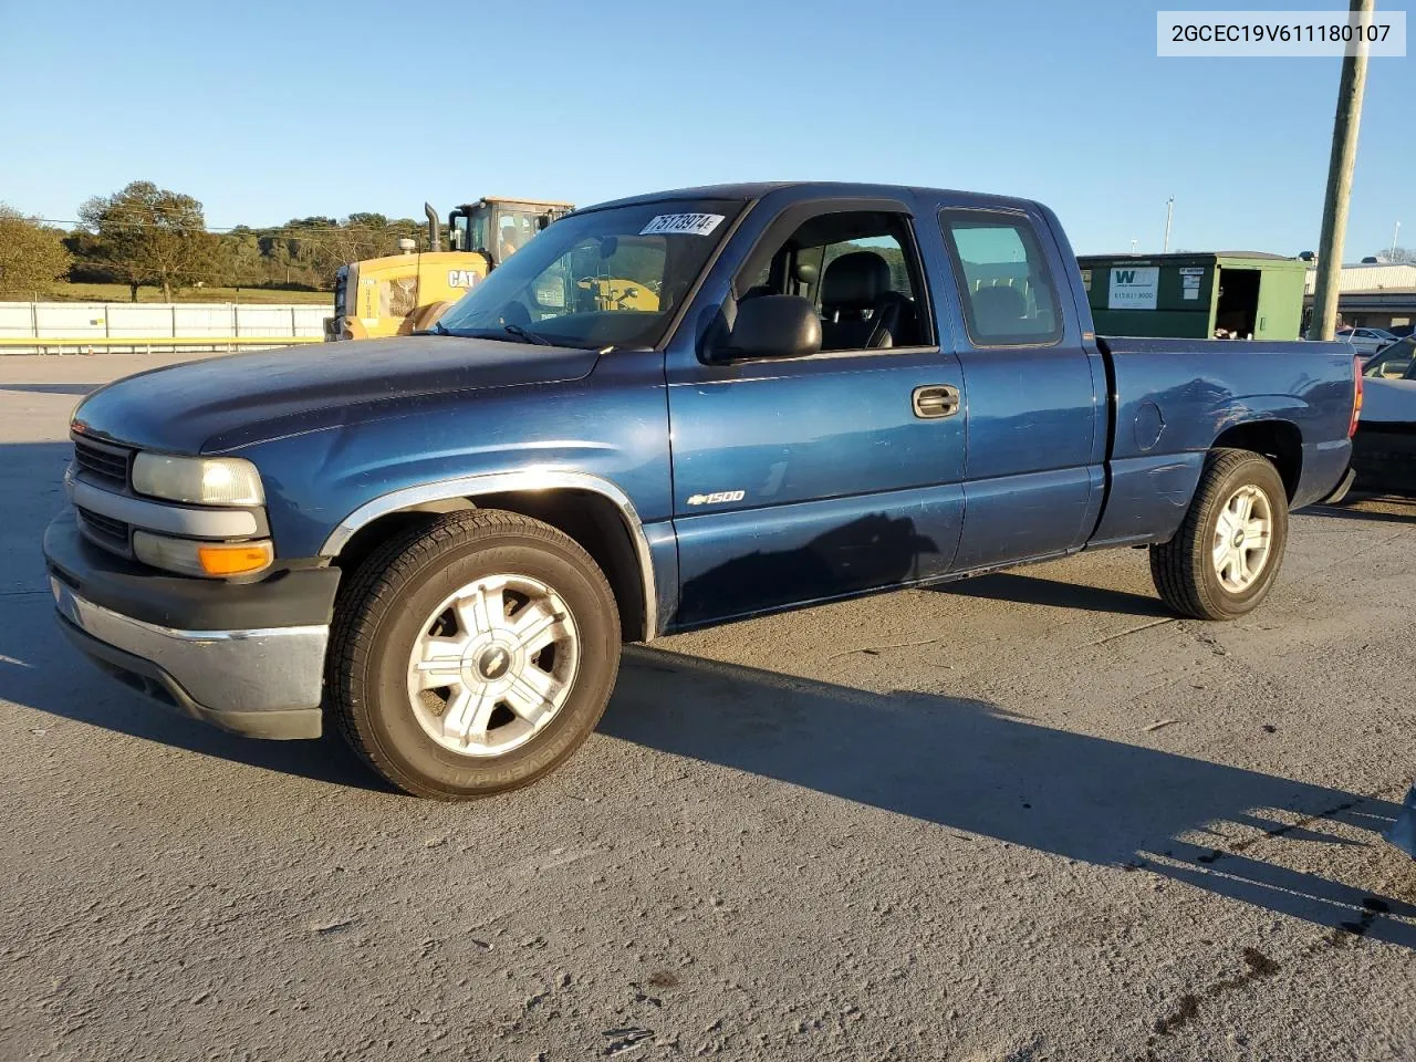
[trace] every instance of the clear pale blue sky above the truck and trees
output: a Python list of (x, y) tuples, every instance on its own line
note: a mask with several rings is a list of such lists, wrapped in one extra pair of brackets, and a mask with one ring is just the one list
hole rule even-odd
[[(1314, 248), (1340, 61), (1161, 59), (1157, 6), (0, 0), (0, 201), (147, 178), (228, 227), (878, 180), (1039, 198), (1083, 253), (1158, 251), (1170, 195), (1172, 246)], [(1349, 261), (1416, 246), (1413, 102), (1372, 59)]]

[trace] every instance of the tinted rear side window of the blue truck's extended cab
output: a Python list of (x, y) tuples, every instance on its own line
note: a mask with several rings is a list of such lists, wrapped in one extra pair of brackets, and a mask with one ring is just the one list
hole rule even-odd
[(946, 210), (939, 221), (976, 347), (1045, 347), (1062, 338), (1056, 287), (1027, 218)]

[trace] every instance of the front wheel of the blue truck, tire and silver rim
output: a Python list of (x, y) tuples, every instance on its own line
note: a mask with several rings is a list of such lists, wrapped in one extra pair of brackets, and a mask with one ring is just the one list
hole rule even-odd
[[(326, 688), (350, 745), (389, 783), (466, 800), (565, 762), (605, 712), (619, 658), (615, 595), (589, 554), (538, 520), (473, 510), (360, 565), (336, 605)], [(415, 691), (425, 674), (447, 685)]]

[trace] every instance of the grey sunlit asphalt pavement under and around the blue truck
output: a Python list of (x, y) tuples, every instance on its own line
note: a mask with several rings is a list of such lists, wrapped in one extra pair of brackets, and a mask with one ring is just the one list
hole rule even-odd
[(0, 1061), (1416, 1059), (1416, 504), (1238, 623), (1123, 549), (632, 649), (436, 804), (62, 640), (67, 416), (166, 360), (0, 358)]

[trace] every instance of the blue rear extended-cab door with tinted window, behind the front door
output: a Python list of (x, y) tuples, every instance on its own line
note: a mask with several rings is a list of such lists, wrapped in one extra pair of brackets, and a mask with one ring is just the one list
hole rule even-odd
[(969, 395), (967, 518), (953, 568), (1079, 549), (1103, 496), (1106, 382), (1093, 378), (1048, 219), (1025, 208), (944, 207), (939, 227)]

